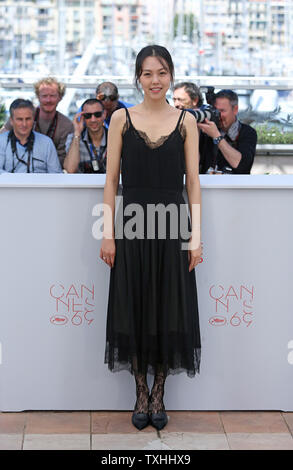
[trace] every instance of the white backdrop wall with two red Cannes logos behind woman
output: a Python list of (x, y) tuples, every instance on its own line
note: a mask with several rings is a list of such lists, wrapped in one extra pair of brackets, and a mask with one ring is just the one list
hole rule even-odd
[[(103, 175), (0, 176), (0, 410), (124, 410), (104, 364), (109, 268), (92, 234)], [(293, 177), (201, 176), (201, 373), (170, 410), (293, 411)], [(151, 377), (149, 377), (151, 384)]]

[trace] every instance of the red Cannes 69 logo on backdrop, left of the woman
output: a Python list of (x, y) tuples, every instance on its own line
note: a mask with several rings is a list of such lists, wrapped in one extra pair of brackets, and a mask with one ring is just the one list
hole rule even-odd
[(91, 325), (94, 321), (94, 285), (86, 286), (76, 283), (63, 286), (60, 283), (52, 284), (50, 297), (53, 303), (50, 322), (53, 325)]

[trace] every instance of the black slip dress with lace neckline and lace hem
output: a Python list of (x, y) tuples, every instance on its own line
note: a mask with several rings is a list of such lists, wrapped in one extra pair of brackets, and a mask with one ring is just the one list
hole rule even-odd
[[(189, 272), (188, 251), (182, 249), (190, 234), (184, 238), (180, 230), (182, 208), (190, 228), (182, 195), (184, 116), (182, 111), (173, 132), (154, 143), (133, 126), (126, 109), (123, 201), (115, 225), (104, 359), (112, 372), (186, 372), (189, 377), (199, 372), (195, 271)], [(168, 208), (177, 212), (177, 219)]]

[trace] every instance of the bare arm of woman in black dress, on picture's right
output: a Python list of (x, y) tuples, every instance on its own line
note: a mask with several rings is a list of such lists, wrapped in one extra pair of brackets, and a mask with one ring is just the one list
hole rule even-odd
[(186, 190), (191, 217), (191, 239), (189, 242), (189, 271), (201, 257), (201, 194), (199, 182), (198, 130), (194, 117), (186, 113), (184, 119), (186, 138), (184, 143)]

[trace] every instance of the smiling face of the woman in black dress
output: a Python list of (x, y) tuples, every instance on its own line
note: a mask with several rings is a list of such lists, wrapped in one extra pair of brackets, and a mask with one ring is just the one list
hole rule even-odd
[(171, 74), (168, 65), (157, 57), (147, 57), (142, 64), (142, 72), (139, 77), (145, 96), (152, 99), (165, 97), (171, 83)]

